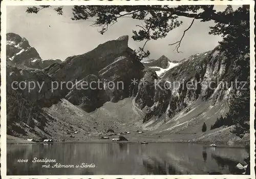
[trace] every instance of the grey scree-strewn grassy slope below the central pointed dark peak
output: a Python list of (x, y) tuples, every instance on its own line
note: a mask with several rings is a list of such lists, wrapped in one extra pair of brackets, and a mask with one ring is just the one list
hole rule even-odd
[[(115, 133), (131, 131), (137, 133), (142, 125), (142, 115), (132, 108), (132, 100), (126, 98), (117, 103), (106, 102), (102, 107), (92, 113), (87, 113), (62, 99), (50, 108), (44, 108), (54, 120), (48, 121), (44, 132), (54, 141), (98, 141), (106, 135), (106, 130), (113, 129)], [(124, 112), (125, 111), (125, 112)], [(74, 133), (78, 131), (77, 133)], [(38, 131), (39, 132), (39, 131)], [(32, 133), (27, 133), (24, 139), (33, 138)], [(71, 137), (74, 136), (73, 137)], [(118, 136), (112, 137), (117, 138)], [(49, 137), (50, 138), (50, 137)]]

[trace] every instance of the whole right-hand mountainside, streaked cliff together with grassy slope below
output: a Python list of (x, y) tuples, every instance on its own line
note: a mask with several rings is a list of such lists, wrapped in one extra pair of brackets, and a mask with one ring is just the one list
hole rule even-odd
[[(234, 83), (243, 72), (239, 71), (236, 60), (216, 47), (184, 59), (160, 79), (154, 72), (146, 73), (135, 98), (144, 113), (144, 128), (155, 135), (182, 134), (182, 140), (220, 140), (217, 133), (235, 140), (229, 127), (209, 128), (217, 118), (225, 116), (232, 95), (237, 93)], [(204, 122), (207, 134), (200, 133)]]

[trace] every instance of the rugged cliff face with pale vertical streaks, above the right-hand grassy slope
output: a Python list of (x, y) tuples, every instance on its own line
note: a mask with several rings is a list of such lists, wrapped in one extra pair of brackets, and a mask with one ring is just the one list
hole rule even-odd
[[(149, 74), (151, 80), (148, 80), (146, 73), (143, 79), (147, 80), (144, 85), (143, 79), (140, 81), (135, 98), (141, 109), (146, 108), (144, 122), (153, 114), (158, 117), (165, 114), (171, 119), (199, 98), (213, 105), (228, 102), (231, 81), (234, 80), (229, 73), (232, 60), (220, 53), (217, 47), (213, 51), (190, 56), (159, 80), (153, 72)], [(222, 87), (222, 84), (225, 86)]]

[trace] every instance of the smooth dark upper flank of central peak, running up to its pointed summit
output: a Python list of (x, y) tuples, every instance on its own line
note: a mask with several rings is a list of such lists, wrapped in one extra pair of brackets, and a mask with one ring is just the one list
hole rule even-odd
[(127, 42), (127, 36), (105, 42), (88, 53), (68, 57), (63, 63), (52, 65), (47, 72), (64, 81), (80, 80), (89, 74), (98, 75), (118, 57), (127, 56)]

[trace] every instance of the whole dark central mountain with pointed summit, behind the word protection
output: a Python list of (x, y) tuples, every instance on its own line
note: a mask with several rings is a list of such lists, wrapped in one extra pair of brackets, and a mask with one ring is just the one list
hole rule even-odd
[[(45, 72), (61, 81), (78, 81), (78, 87), (71, 89), (66, 99), (87, 112), (107, 101), (118, 102), (135, 96), (138, 84), (131, 84), (131, 80), (142, 78), (143, 65), (127, 42), (128, 36), (105, 42), (86, 54), (52, 64)], [(88, 87), (81, 89), (83, 84), (88, 84)], [(93, 85), (90, 87), (90, 84)]]

